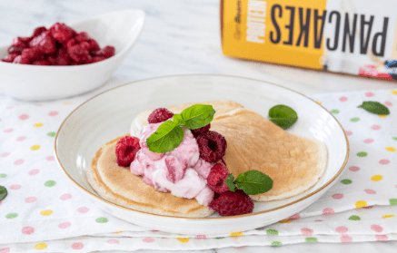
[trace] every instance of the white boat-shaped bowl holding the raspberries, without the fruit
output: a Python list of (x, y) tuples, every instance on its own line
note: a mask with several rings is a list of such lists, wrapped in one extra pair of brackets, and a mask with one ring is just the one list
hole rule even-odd
[[(142, 10), (126, 10), (70, 24), (77, 32), (87, 32), (101, 48), (113, 45), (114, 56), (99, 63), (75, 66), (0, 62), (0, 92), (20, 100), (37, 101), (69, 97), (99, 87), (133, 48), (144, 26), (144, 17)], [(8, 46), (0, 47), (0, 58), (7, 55)]]

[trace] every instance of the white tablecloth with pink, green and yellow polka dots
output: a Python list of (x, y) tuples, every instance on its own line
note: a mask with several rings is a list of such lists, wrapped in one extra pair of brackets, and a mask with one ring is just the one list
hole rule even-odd
[[(271, 226), (185, 236), (116, 219), (84, 199), (58, 169), (54, 139), (89, 95), (55, 102), (0, 98), (0, 253), (205, 249), (397, 240), (397, 90), (313, 96), (341, 122), (351, 154), (341, 180), (308, 209)], [(358, 105), (381, 102), (390, 115)]]

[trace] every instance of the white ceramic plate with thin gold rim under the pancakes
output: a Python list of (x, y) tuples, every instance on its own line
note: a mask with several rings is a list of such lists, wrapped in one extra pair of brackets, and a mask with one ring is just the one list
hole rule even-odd
[[(256, 202), (252, 214), (235, 217), (213, 215), (206, 219), (173, 218), (127, 209), (102, 199), (89, 185), (85, 170), (104, 143), (129, 133), (134, 117), (149, 108), (184, 102), (233, 100), (267, 117), (276, 104), (292, 107), (298, 122), (288, 131), (323, 141), (327, 167), (313, 188), (293, 198)], [(134, 224), (182, 234), (223, 234), (272, 224), (311, 205), (340, 177), (347, 162), (349, 143), (342, 126), (320, 104), (281, 86), (223, 75), (166, 76), (118, 86), (84, 102), (59, 128), (56, 159), (77, 190), (104, 211)]]

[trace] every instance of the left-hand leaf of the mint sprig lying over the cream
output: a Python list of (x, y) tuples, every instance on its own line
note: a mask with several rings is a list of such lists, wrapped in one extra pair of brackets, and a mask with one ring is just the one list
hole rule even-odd
[(146, 139), (149, 151), (164, 153), (173, 151), (184, 140), (184, 130), (175, 122), (163, 122), (154, 133)]

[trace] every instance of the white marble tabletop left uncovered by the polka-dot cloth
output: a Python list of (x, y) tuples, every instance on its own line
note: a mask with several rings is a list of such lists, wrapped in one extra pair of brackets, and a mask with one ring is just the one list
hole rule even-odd
[[(254, 63), (223, 56), (218, 0), (15, 0), (0, 1), (0, 44), (30, 35), (37, 26), (73, 23), (89, 16), (139, 8), (146, 13), (144, 31), (131, 54), (104, 86), (156, 76), (216, 73), (280, 84), (306, 95), (324, 92), (388, 89), (397, 83), (300, 68)], [(0, 91), (0, 100), (5, 95)], [(397, 242), (300, 244), (280, 248), (244, 247), (192, 252), (395, 252)], [(114, 251), (115, 252), (115, 251)], [(123, 251), (125, 252), (125, 251)], [(158, 252), (140, 250), (136, 252)]]

